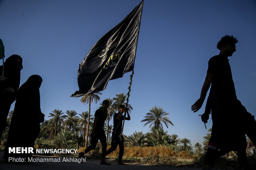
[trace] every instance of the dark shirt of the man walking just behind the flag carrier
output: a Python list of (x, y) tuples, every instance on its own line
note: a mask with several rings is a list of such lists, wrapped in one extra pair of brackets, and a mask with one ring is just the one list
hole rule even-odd
[(107, 110), (104, 109), (104, 107), (100, 107), (100, 109), (96, 110), (94, 116), (98, 118), (95, 125), (95, 132), (97, 133), (104, 131), (104, 122), (107, 119)]

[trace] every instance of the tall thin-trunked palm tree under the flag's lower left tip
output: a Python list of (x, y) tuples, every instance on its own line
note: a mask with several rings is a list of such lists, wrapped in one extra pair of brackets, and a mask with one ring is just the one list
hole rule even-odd
[(88, 121), (87, 121), (87, 129), (86, 129), (86, 140), (85, 140), (85, 147), (87, 147), (87, 143), (88, 143), (88, 135), (89, 135), (89, 122), (90, 122), (90, 113), (91, 113), (91, 103), (95, 102), (95, 104), (100, 100), (100, 96), (102, 95), (102, 93), (97, 92), (97, 93), (92, 93), (89, 95), (85, 95), (81, 98), (81, 102), (83, 104), (88, 104), (89, 103), (89, 113), (88, 113)]

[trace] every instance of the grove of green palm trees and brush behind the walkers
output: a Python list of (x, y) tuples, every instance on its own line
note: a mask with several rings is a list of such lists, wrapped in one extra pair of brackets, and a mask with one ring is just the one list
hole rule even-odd
[[(62, 110), (55, 109), (50, 113), (48, 120), (45, 120), (40, 124), (40, 134), (35, 142), (35, 145), (40, 148), (81, 148), (87, 147), (90, 143), (90, 133), (92, 131), (92, 123), (94, 117), (90, 112), (90, 105), (92, 102), (99, 102), (101, 93), (94, 93), (91, 95), (85, 95), (81, 98), (81, 102), (89, 105), (89, 111), (78, 114), (75, 110)], [(120, 104), (125, 104), (126, 95), (119, 93), (113, 99), (109, 100), (108, 116), (105, 123), (105, 133), (107, 135), (107, 143), (110, 145), (111, 133), (113, 126), (109, 121), (117, 112), (117, 107)], [(102, 104), (102, 103), (101, 103)], [(133, 110), (133, 107), (128, 104), (128, 108)], [(8, 128), (11, 122), (13, 111), (8, 115), (8, 127), (5, 129), (1, 138), (1, 143), (5, 143), (7, 140)], [(191, 155), (200, 155), (206, 151), (208, 141), (211, 137), (211, 133), (207, 133), (204, 137), (203, 144), (198, 142), (192, 146), (191, 140), (187, 138), (180, 139), (178, 135), (169, 135), (168, 131), (165, 131), (163, 126), (168, 126), (173, 123), (168, 118), (169, 113), (166, 113), (162, 107), (152, 107), (141, 122), (145, 122), (144, 126), (149, 125), (149, 132), (142, 133), (135, 131), (131, 135), (124, 135), (126, 147), (168, 147), (179, 153), (180, 151), (186, 151)], [(112, 121), (111, 121), (112, 122)], [(211, 129), (209, 130), (211, 132)], [(100, 142), (98, 142), (98, 148)]]

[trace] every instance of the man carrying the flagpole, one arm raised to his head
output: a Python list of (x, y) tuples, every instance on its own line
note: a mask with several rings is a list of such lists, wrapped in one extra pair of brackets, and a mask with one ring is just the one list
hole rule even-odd
[[(126, 112), (127, 117), (123, 116), (123, 112)], [(119, 145), (119, 157), (118, 157), (118, 165), (126, 165), (122, 162), (123, 158), (123, 151), (124, 151), (124, 142), (123, 142), (123, 135), (121, 134), (122, 131), (122, 122), (123, 119), (130, 120), (130, 115), (128, 113), (128, 108), (124, 105), (119, 105), (118, 113), (114, 114), (114, 128), (112, 132), (112, 141), (111, 141), (111, 148), (106, 151), (106, 156), (110, 154), (112, 151), (116, 150), (117, 145)]]

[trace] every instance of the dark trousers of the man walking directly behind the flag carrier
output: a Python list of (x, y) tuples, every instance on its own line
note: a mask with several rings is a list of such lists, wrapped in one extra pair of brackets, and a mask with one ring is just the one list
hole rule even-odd
[(96, 132), (95, 136), (91, 137), (90, 146), (84, 150), (84, 153), (86, 154), (92, 149), (94, 149), (97, 145), (98, 140), (100, 140), (102, 144), (102, 156), (105, 156), (106, 150), (107, 150), (107, 138), (104, 132), (100, 132), (100, 133)]

